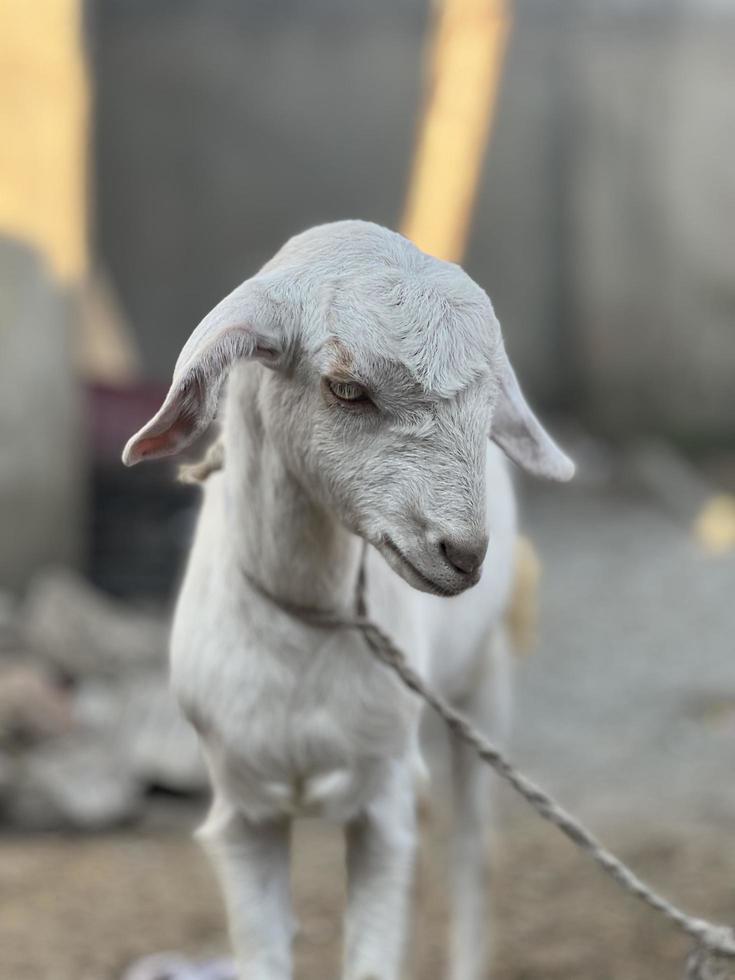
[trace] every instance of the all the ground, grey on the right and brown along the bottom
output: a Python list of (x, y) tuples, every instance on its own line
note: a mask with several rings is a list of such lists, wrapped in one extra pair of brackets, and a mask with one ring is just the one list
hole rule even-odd
[[(542, 641), (516, 665), (512, 757), (666, 895), (735, 924), (735, 552), (708, 557), (654, 501), (584, 485), (526, 513), (549, 572)], [(516, 799), (499, 811), (494, 980), (682, 980), (686, 940)], [(148, 953), (226, 950), (183, 818), (186, 832), (0, 838), (0, 980), (120, 980)], [(420, 855), (415, 980), (444, 975), (445, 826)], [(295, 853), (297, 976), (333, 980), (337, 835), (305, 825)]]

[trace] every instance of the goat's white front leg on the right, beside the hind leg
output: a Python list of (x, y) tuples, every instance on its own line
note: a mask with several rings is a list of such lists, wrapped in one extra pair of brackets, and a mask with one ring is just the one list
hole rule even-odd
[(398, 980), (416, 850), (414, 771), (395, 764), (347, 828), (343, 980)]

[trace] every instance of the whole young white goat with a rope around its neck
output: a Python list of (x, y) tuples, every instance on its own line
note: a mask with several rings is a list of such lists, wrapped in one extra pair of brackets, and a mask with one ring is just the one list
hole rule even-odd
[[(283, 605), (353, 613), (367, 542), (372, 618), (497, 732), (516, 529), (488, 435), (532, 473), (566, 480), (574, 467), (524, 401), (485, 292), (377, 225), (298, 235), (222, 300), (124, 461), (191, 442), (228, 370), (226, 465), (206, 485), (172, 636), (173, 685), (214, 790), (201, 834), (243, 980), (287, 980), (291, 820), (344, 823), (342, 976), (397, 980), (419, 705), (359, 635), (315, 628)], [(453, 751), (450, 975), (480, 980), (488, 776)]]

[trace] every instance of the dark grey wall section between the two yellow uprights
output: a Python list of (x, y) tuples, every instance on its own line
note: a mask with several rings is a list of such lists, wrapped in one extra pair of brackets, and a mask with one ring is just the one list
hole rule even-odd
[(99, 243), (154, 374), (289, 235), (343, 217), (395, 223), (425, 11), (368, 13), (97, 5)]

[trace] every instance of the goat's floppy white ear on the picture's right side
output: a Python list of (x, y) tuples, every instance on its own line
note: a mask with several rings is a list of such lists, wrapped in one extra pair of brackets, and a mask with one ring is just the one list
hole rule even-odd
[(490, 438), (528, 473), (549, 480), (571, 480), (574, 463), (531, 411), (505, 350), (499, 352), (498, 368), (500, 392)]

